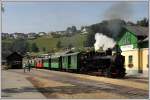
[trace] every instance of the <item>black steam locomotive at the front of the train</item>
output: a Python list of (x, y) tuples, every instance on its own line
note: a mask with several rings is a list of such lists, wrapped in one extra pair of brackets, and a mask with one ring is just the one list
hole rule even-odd
[(126, 74), (124, 68), (125, 57), (121, 55), (121, 50), (118, 45), (114, 49), (116, 49), (116, 52), (113, 55), (110, 48), (105, 52), (92, 51), (82, 55), (80, 71), (98, 71), (101, 75), (107, 77), (123, 78)]

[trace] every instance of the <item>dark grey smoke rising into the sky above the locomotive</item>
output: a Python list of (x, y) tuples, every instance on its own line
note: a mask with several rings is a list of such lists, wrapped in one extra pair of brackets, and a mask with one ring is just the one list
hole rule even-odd
[(125, 22), (123, 20), (130, 20), (133, 16), (133, 3), (131, 2), (117, 2), (113, 4), (104, 13), (104, 18), (110, 20), (108, 22), (108, 29), (112, 32), (113, 37), (117, 37)]

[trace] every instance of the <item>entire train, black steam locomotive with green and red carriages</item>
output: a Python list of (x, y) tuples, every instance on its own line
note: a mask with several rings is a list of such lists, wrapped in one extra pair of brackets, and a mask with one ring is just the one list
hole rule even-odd
[(108, 49), (104, 52), (74, 52), (49, 58), (38, 57), (32, 59), (31, 66), (76, 73), (99, 72), (106, 77), (124, 78), (124, 62), (125, 57), (120, 51), (112, 54), (112, 50)]

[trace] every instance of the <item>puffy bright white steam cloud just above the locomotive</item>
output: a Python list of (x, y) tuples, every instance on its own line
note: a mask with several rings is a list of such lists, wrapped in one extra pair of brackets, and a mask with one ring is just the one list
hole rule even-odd
[(96, 33), (95, 40), (95, 51), (99, 50), (100, 47), (102, 47), (103, 50), (107, 50), (108, 48), (113, 48), (116, 44), (116, 42), (112, 38), (109, 38), (106, 35), (103, 35), (102, 33)]

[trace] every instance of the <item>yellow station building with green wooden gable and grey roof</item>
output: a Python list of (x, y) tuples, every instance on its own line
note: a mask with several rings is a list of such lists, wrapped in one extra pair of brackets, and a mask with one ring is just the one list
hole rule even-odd
[(149, 47), (148, 27), (125, 26), (117, 40), (125, 56), (127, 75), (148, 77)]

